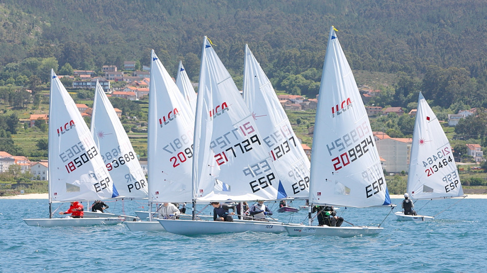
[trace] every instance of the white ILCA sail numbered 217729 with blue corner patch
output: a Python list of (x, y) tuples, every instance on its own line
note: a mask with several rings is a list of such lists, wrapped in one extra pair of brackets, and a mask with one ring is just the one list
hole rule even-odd
[(230, 74), (205, 37), (195, 126), (194, 194), (199, 201), (275, 200), (279, 177)]

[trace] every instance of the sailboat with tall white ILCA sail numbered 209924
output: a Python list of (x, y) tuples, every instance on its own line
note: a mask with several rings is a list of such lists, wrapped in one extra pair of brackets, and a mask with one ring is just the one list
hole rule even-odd
[(379, 226), (312, 226), (311, 208), (390, 206), (391, 199), (370, 122), (332, 26), (316, 111), (309, 190), (309, 225), (286, 226), (289, 235), (352, 237)]

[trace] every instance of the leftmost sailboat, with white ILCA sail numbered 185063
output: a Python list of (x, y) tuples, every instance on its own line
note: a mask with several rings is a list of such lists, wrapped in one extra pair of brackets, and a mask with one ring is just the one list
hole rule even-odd
[(52, 203), (119, 195), (88, 126), (52, 69), (48, 143), (50, 218), (23, 220), (48, 227), (121, 223), (123, 218), (52, 218)]

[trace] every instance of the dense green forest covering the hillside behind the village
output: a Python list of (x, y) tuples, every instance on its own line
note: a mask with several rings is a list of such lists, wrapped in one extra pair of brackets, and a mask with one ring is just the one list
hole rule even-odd
[[(24, 114), (39, 111), (51, 68), (59, 75), (81, 69), (103, 76), (103, 65), (149, 65), (151, 49), (173, 76), (182, 60), (198, 82), (205, 35), (238, 87), (248, 44), (278, 92), (315, 98), (334, 25), (357, 84), (381, 91), (368, 105), (409, 112), (422, 92), (441, 120), (479, 108), (455, 133), (485, 146), (485, 14), (484, 0), (2, 0), (0, 104)], [(69, 89), (70, 79), (62, 81)], [(72, 93), (76, 100), (92, 97), (89, 90)], [(142, 115), (137, 104), (112, 103), (124, 114)], [(385, 116), (372, 127), (409, 137), (412, 122)], [(9, 139), (18, 126), (15, 113), (0, 114), (0, 138)]]

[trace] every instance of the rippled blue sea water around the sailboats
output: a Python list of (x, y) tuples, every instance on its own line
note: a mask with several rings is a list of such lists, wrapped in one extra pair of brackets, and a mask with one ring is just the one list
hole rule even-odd
[[(416, 208), (426, 202), (418, 201)], [(435, 215), (457, 202), (431, 201), (420, 212)], [(145, 206), (135, 201), (108, 204), (110, 212), (124, 210), (129, 215)], [(293, 204), (298, 205), (302, 203)], [(67, 208), (65, 204), (61, 210)], [(338, 213), (364, 225), (380, 223), (389, 211), (342, 208)], [(292, 221), (301, 222), (306, 215), (300, 211)], [(353, 238), (252, 232), (186, 237), (131, 232), (123, 224), (46, 228), (22, 221), (47, 216), (47, 200), (0, 200), (0, 272), (485, 272), (487, 268), (487, 199), (464, 199), (434, 222), (399, 222), (391, 214), (381, 233)], [(285, 214), (274, 217), (288, 220)]]

